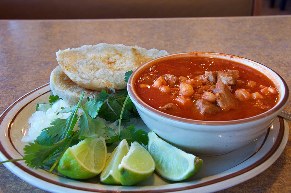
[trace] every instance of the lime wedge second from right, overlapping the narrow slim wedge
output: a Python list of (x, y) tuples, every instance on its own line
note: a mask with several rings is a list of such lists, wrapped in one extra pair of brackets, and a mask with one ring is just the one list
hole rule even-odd
[(155, 162), (147, 149), (134, 142), (118, 169), (121, 184), (131, 186), (148, 178), (155, 170)]

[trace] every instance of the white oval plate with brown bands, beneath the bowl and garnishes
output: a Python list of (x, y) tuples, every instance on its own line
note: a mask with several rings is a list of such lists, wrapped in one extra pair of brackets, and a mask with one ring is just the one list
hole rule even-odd
[[(0, 116), (0, 160), (22, 158), (27, 132), (27, 120), (35, 111), (35, 103), (48, 101), (49, 84), (29, 92), (15, 101)], [(147, 130), (141, 120), (136, 128)], [(101, 184), (99, 176), (85, 181), (50, 174), (44, 169), (26, 167), (24, 161), (4, 165), (24, 181), (50, 192), (214, 192), (242, 183), (272, 165), (281, 155), (288, 140), (288, 122), (276, 118), (272, 126), (252, 143), (221, 156), (205, 156), (203, 169), (194, 177), (182, 182), (170, 182), (153, 174), (145, 181), (128, 186)]]

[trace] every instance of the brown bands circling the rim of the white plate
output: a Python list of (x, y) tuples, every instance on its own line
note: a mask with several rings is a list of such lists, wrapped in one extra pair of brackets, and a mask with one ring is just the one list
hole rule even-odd
[[(36, 90), (33, 90), (27, 94), (25, 94), (24, 96), (22, 96), (21, 98), (19, 98), (17, 101), (15, 101), (12, 105), (10, 105), (1, 115), (0, 117), (0, 124), (2, 123), (4, 117), (8, 114), (8, 112), (17, 104), (19, 103), (20, 101), (22, 101), (23, 99), (25, 99), (27, 96), (31, 95), (32, 93), (40, 90), (41, 88), (44, 88), (48, 85), (45, 84), (39, 88), (37, 88)], [(11, 130), (11, 126), (13, 124), (13, 121), (16, 119), (17, 115), (19, 115), (19, 113), (26, 107), (28, 106), (33, 100), (37, 99), (38, 97), (46, 94), (50, 92), (49, 91), (46, 91), (42, 94), (40, 94), (39, 96), (37, 96), (36, 98), (30, 100), (29, 102), (27, 102), (24, 106), (22, 106), (18, 111), (17, 113), (13, 116), (13, 118), (11, 119), (12, 121), (8, 124), (8, 138), (9, 138), (9, 142), (11, 143), (11, 145), (13, 146), (13, 148), (19, 153), (19, 151), (15, 148), (12, 140), (11, 140), (11, 137), (10, 137), (10, 130)], [(241, 169), (237, 172), (234, 172), (232, 174), (228, 174), (226, 176), (222, 176), (220, 178), (217, 178), (217, 179), (213, 179), (213, 180), (210, 180), (210, 181), (207, 181), (207, 182), (203, 182), (203, 183), (199, 183), (199, 184), (194, 184), (194, 185), (189, 185), (189, 186), (183, 186), (183, 187), (177, 187), (177, 188), (164, 188), (164, 189), (160, 189), (160, 190), (133, 190), (133, 191), (130, 191), (130, 190), (103, 190), (103, 189), (93, 189), (93, 188), (86, 188), (86, 187), (78, 187), (78, 186), (74, 186), (74, 185), (68, 185), (68, 184), (64, 184), (64, 183), (60, 183), (59, 181), (54, 181), (54, 180), (51, 180), (49, 178), (46, 178), (44, 176), (41, 176), (40, 174), (37, 174), (36, 172), (34, 172), (33, 170), (31, 170), (30, 168), (18, 163), (18, 162), (13, 162), (13, 164), (15, 166), (17, 166), (19, 169), (23, 170), (24, 172), (36, 177), (36, 178), (39, 178), (40, 180), (43, 180), (43, 181), (46, 181), (48, 183), (52, 183), (52, 184), (55, 184), (55, 185), (58, 185), (58, 186), (62, 186), (62, 187), (67, 187), (67, 188), (71, 188), (71, 189), (75, 189), (75, 190), (83, 190), (83, 191), (89, 191), (89, 192), (173, 192), (173, 191), (181, 191), (181, 190), (191, 190), (191, 189), (194, 189), (194, 188), (198, 188), (198, 187), (203, 187), (203, 186), (207, 186), (207, 185), (212, 185), (214, 183), (218, 183), (218, 182), (221, 182), (221, 181), (225, 181), (227, 179), (230, 179), (230, 178), (233, 178), (235, 176), (239, 176), (241, 174), (244, 174), (252, 169), (254, 169), (255, 167), (258, 167), (259, 165), (261, 165), (262, 163), (264, 163), (266, 160), (268, 160), (278, 149), (278, 147), (280, 146), (281, 142), (282, 142), (282, 139), (283, 139), (283, 135), (284, 135), (284, 132), (285, 132), (285, 124), (284, 124), (284, 119), (279, 117), (279, 124), (280, 124), (280, 128), (279, 128), (279, 132), (278, 132), (278, 136), (276, 138), (276, 141), (274, 143), (274, 145), (272, 146), (272, 148), (262, 157), (260, 158), (259, 160), (257, 160), (256, 162), (254, 162), (253, 164), (249, 165), (248, 167), (244, 168), (244, 169)], [(265, 135), (265, 139), (264, 141), (262, 142), (260, 148), (265, 144), (266, 142), (266, 139), (267, 139), (267, 136), (269, 135), (269, 129), (267, 131), (267, 134)], [(259, 148), (259, 149), (260, 149)], [(258, 149), (258, 150), (259, 150)], [(252, 156), (254, 156), (258, 150), (253, 153), (249, 158), (251, 158)], [(3, 147), (2, 143), (0, 142), (0, 151), (3, 153), (4, 156), (6, 156), (6, 158), (8, 159), (13, 159), (9, 153), (5, 150), (5, 148)], [(21, 155), (19, 153), (19, 155)], [(23, 155), (21, 155), (23, 156)], [(244, 161), (248, 160), (249, 158), (246, 158)], [(243, 162), (244, 162), (243, 161)], [(238, 164), (239, 165), (239, 164)], [(235, 166), (233, 166), (235, 167)], [(54, 174), (56, 175), (56, 174)]]

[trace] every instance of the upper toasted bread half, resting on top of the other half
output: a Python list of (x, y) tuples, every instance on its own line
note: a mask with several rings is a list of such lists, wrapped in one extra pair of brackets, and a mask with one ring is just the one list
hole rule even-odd
[(127, 71), (134, 71), (141, 64), (167, 54), (165, 50), (100, 43), (59, 50), (56, 60), (63, 72), (81, 87), (115, 91), (126, 88), (124, 75)]

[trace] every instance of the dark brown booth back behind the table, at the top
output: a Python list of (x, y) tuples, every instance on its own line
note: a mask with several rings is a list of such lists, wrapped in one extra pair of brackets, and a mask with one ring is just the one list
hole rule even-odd
[(0, 0), (0, 19), (259, 15), (262, 0)]

